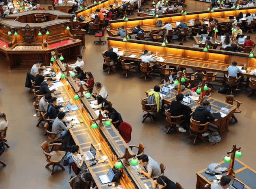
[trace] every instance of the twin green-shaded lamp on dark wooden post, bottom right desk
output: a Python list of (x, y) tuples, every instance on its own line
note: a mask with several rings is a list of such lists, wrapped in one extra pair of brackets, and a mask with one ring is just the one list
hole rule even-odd
[[(234, 172), (234, 161), (235, 161), (235, 156), (237, 158), (241, 158), (242, 157), (242, 153), (240, 152), (240, 148), (236, 148), (236, 145), (233, 145), (233, 149), (230, 152), (227, 152), (227, 155), (225, 156), (225, 158), (223, 159), (225, 162), (230, 162), (229, 163), (229, 167), (228, 167), (228, 171), (226, 173), (226, 176), (231, 176), (232, 178), (235, 178), (235, 172)], [(231, 154), (231, 158), (228, 154)]]

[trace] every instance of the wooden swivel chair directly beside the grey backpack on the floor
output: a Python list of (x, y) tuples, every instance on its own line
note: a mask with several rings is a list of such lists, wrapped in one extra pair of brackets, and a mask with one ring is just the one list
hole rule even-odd
[(210, 122), (208, 121), (205, 124), (200, 124), (200, 121), (193, 120), (192, 117), (191, 117), (190, 118), (190, 130), (193, 131), (193, 132), (196, 132), (196, 133), (193, 134), (193, 135), (189, 135), (187, 138), (190, 139), (191, 137), (195, 137), (194, 145), (196, 143), (197, 138), (201, 139), (205, 143), (204, 138), (201, 135), (199, 135), (199, 133), (206, 132), (208, 130), (209, 123)]

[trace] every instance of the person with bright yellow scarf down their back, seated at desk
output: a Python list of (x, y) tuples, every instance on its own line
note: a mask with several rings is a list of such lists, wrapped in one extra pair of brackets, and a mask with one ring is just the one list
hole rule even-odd
[(148, 92), (147, 104), (157, 104), (157, 112), (160, 110), (162, 111), (162, 99), (159, 95), (160, 87), (158, 85), (154, 86), (154, 91)]

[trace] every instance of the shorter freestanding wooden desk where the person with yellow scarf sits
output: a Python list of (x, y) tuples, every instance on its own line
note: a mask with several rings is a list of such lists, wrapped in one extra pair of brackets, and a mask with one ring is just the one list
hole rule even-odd
[[(163, 85), (166, 85), (168, 87), (169, 82), (164, 83)], [(163, 85), (160, 85), (160, 87), (162, 87)], [(151, 90), (146, 91), (146, 95), (148, 95), (148, 92), (150, 92)], [(182, 94), (187, 94), (189, 91), (189, 89), (184, 89), (181, 91)], [(162, 103), (171, 105), (171, 102), (173, 100), (176, 100), (176, 93), (177, 90), (174, 88), (170, 91), (169, 95), (165, 96), (165, 98), (163, 98)], [(233, 113), (236, 111), (236, 106), (224, 103), (223, 101), (217, 100), (215, 98), (212, 97), (208, 97), (205, 96), (204, 100), (208, 100), (211, 104), (211, 110), (215, 113), (216, 111), (219, 111), (222, 107), (225, 107), (227, 109), (230, 109), (230, 112), (228, 113), (228, 115), (226, 115), (225, 117), (221, 118), (221, 119), (215, 119), (215, 120), (210, 120), (208, 119), (208, 121), (210, 121), (211, 123), (215, 124), (218, 126), (218, 133), (219, 135), (223, 135), (224, 133), (228, 132), (228, 122), (231, 118), (231, 116), (233, 115)], [(189, 107), (191, 109), (193, 109), (193, 107), (198, 106), (198, 102), (195, 100), (191, 100), (191, 104), (189, 105)]]

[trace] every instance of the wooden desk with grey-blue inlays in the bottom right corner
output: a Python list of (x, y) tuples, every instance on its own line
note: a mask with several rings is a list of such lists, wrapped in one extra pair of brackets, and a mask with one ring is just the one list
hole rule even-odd
[[(209, 162), (210, 164), (210, 162)], [(228, 169), (229, 163), (226, 163), (225, 161), (219, 162), (221, 164), (221, 167), (226, 167)], [(197, 186), (196, 189), (204, 189), (204, 186), (208, 183), (209, 186), (206, 187), (206, 189), (210, 189), (211, 184), (214, 182), (210, 182), (207, 178), (209, 176), (212, 176), (211, 174), (205, 173), (205, 169), (198, 171), (197, 174)], [(237, 158), (235, 158), (234, 162), (234, 172), (236, 179), (239, 180), (239, 182), (243, 183), (245, 185), (244, 189), (256, 189), (256, 171), (250, 168), (248, 165), (245, 165), (245, 163), (239, 161)], [(218, 175), (225, 175), (218, 174)]]

